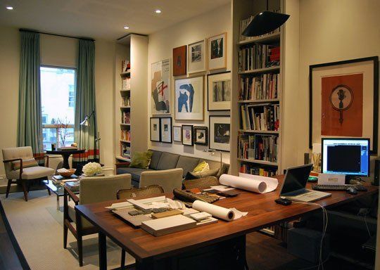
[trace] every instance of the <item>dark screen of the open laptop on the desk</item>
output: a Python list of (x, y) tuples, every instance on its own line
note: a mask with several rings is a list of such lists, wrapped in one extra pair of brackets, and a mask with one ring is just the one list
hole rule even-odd
[(305, 188), (311, 169), (312, 164), (287, 169), (280, 195)]

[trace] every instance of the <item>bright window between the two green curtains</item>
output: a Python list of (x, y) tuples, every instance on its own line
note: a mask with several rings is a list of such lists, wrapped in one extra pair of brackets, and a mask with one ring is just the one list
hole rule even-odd
[[(44, 150), (63, 139), (65, 145), (70, 145), (74, 142), (76, 71), (41, 66), (40, 74)], [(68, 128), (59, 129), (56, 123), (68, 124)]]

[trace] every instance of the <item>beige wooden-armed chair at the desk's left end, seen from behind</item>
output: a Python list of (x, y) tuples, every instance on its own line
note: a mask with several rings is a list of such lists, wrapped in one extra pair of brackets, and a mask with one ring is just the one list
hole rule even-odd
[[(68, 230), (70, 230), (75, 238), (77, 238), (80, 266), (83, 265), (82, 237), (98, 233), (98, 231), (87, 219), (80, 217), (79, 212), (75, 211), (75, 205), (116, 200), (116, 193), (124, 188), (131, 188), (131, 174), (83, 178), (80, 180), (79, 198), (65, 186), (63, 200), (63, 248), (67, 246)], [(72, 198), (72, 201), (69, 202), (68, 197)], [(76, 228), (72, 222), (75, 223)]]

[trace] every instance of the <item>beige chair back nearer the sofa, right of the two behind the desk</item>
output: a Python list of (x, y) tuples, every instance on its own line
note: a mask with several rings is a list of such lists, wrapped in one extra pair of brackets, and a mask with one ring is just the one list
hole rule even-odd
[(175, 188), (182, 188), (182, 174), (182, 168), (141, 172), (139, 188), (159, 185), (165, 192), (173, 192)]

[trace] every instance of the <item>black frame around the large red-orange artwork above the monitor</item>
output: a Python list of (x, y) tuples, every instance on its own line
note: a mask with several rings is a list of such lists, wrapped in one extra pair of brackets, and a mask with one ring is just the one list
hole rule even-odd
[[(367, 62), (372, 61), (374, 65), (373, 69), (373, 88), (374, 88), (374, 111), (373, 111), (373, 138), (372, 138), (372, 150), (370, 150), (371, 155), (376, 155), (378, 150), (378, 129), (379, 129), (379, 56), (371, 56), (366, 58), (357, 58), (357, 59), (350, 59), (350, 60), (342, 60), (337, 62), (330, 62), (330, 63), (322, 63), (317, 65), (310, 65), (309, 66), (309, 148), (312, 149), (312, 113), (313, 113), (313, 106), (312, 106), (312, 75), (313, 71), (316, 68), (324, 68), (334, 65), (347, 65), (351, 63), (360, 63), (360, 62)], [(364, 138), (365, 136), (363, 136)]]

